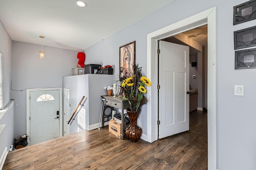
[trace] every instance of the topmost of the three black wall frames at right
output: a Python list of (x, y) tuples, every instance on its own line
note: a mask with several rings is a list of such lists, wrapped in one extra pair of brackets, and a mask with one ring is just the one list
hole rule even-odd
[(256, 19), (256, 0), (234, 6), (233, 25)]

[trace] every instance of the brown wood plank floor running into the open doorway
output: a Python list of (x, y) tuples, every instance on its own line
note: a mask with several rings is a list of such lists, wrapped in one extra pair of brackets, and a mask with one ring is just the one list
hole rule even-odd
[(8, 153), (4, 170), (207, 170), (207, 113), (190, 113), (190, 130), (131, 143), (101, 130), (82, 131)]

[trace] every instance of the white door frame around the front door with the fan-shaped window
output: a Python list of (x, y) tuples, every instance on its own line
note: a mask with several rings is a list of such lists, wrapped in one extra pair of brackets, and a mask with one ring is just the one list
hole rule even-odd
[(40, 89), (27, 89), (26, 90), (26, 134), (28, 135), (28, 145), (30, 145), (30, 92), (32, 91), (47, 91), (47, 90), (59, 90), (60, 95), (60, 110), (59, 110), (59, 120), (60, 120), (60, 137), (62, 137), (62, 88), (40, 88)]

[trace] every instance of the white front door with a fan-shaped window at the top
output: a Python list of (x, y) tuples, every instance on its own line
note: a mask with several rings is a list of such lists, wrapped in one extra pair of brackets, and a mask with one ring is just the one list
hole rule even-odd
[(30, 92), (30, 145), (60, 137), (59, 90)]

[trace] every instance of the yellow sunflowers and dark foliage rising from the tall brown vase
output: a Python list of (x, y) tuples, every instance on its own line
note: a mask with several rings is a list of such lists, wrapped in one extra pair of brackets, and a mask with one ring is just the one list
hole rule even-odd
[(130, 111), (139, 111), (143, 104), (148, 102), (145, 94), (147, 92), (145, 86), (151, 86), (150, 80), (142, 76), (141, 67), (134, 65), (134, 74), (128, 78), (121, 77), (121, 91), (125, 96), (122, 98), (128, 100)]

